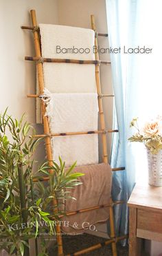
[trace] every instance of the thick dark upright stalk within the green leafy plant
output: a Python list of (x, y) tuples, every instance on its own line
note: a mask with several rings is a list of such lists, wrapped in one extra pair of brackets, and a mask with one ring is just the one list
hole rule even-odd
[[(19, 177), (19, 191), (20, 191), (20, 201), (21, 201), (21, 217), (22, 222), (27, 223), (27, 209), (26, 209), (26, 198), (25, 198), (25, 180), (23, 175), (22, 164), (18, 166), (18, 177)], [(29, 241), (26, 241), (29, 244)], [(24, 246), (24, 256), (29, 256), (30, 250), (29, 247)]]

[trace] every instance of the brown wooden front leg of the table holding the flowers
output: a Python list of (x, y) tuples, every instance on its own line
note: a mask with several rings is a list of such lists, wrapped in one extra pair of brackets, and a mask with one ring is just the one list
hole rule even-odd
[(141, 239), (137, 233), (137, 209), (129, 209), (129, 256), (141, 255)]

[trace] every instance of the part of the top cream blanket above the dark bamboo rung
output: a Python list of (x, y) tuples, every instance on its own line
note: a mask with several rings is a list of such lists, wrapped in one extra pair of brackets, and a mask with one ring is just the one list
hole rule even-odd
[[(93, 53), (93, 45), (95, 40), (95, 32), (87, 28), (69, 27), (66, 25), (39, 24), (42, 55), (46, 58), (75, 58), (78, 60), (95, 60)], [(72, 53), (71, 51), (64, 53), (56, 53), (56, 46), (62, 48), (76, 47), (89, 48), (91, 51)]]

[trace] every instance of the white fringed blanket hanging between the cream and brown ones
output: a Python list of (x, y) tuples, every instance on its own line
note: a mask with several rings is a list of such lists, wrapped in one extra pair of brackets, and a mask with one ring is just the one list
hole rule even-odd
[[(45, 90), (47, 92), (47, 90)], [(97, 94), (49, 94), (47, 116), (51, 133), (97, 130)], [(98, 162), (97, 134), (57, 136), (52, 138), (53, 158), (58, 156), (69, 167), (77, 160), (77, 165)]]

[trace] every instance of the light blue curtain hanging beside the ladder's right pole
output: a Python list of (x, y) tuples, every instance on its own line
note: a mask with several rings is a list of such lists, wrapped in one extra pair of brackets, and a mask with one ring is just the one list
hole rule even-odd
[[(120, 49), (117, 54), (111, 54), (111, 66), (113, 73), (113, 88), (115, 94), (114, 128), (119, 129), (118, 134), (113, 135), (111, 151), (111, 167), (126, 167), (125, 171), (113, 173), (113, 200), (128, 201), (130, 193), (135, 185), (135, 164), (132, 157), (132, 145), (128, 143), (130, 136), (130, 120), (135, 116), (135, 88), (129, 87), (129, 82), (134, 72), (128, 73), (132, 67), (132, 60), (126, 54), (125, 49), (129, 45), (135, 45), (135, 25), (137, 14), (137, 1), (131, 0), (107, 0), (106, 11), (108, 19), (109, 47)], [(127, 82), (126, 82), (127, 81)], [(116, 235), (128, 233), (128, 207), (126, 204), (117, 205), (114, 208)]]

